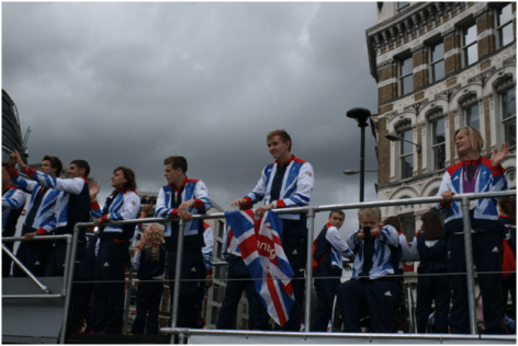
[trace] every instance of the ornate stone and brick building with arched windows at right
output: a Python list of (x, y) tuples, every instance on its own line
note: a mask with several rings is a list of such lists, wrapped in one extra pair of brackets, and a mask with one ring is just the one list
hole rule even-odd
[[(454, 131), (468, 125), (481, 130), (486, 157), (509, 143), (503, 165), (516, 188), (515, 2), (378, 2), (367, 42), (379, 85), (378, 199), (435, 196), (459, 161)], [(387, 207), (383, 216), (401, 216), (412, 241), (431, 207)]]

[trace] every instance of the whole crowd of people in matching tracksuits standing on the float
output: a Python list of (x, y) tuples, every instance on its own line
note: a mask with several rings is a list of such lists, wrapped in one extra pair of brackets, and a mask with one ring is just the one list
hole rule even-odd
[[(329, 331), (335, 297), (341, 313), (342, 331), (365, 331), (362, 321), (369, 316), (367, 330), (372, 333), (395, 332), (395, 311), (401, 304), (404, 261), (419, 261), (417, 284), (417, 331), (469, 334), (469, 301), (465, 279), (466, 263), (463, 235), (463, 209), (454, 195), (508, 189), (503, 160), (508, 153), (504, 143), (491, 158), (481, 154), (484, 146), (478, 130), (463, 127), (454, 135), (457, 152), (461, 161), (446, 170), (438, 196), (438, 211), (421, 216), (421, 228), (415, 234), (412, 247), (402, 233), (402, 222), (390, 217), (382, 222), (380, 208), (358, 210), (360, 228), (344, 241), (339, 229), (345, 214), (329, 212), (328, 222), (314, 240), (312, 264), (318, 305), (313, 332)], [(314, 186), (311, 163), (292, 154), (292, 139), (285, 130), (274, 130), (267, 136), (267, 145), (273, 163), (262, 171), (255, 188), (230, 205), (239, 209), (252, 208), (262, 217), (267, 210), (309, 205)], [(22, 177), (16, 169), (25, 173)], [(211, 207), (209, 191), (203, 181), (187, 176), (188, 162), (183, 157), (169, 157), (164, 161), (167, 184), (158, 194), (153, 217), (182, 219), (184, 243), (182, 252), (181, 282), (178, 307), (178, 326), (200, 328), (205, 326), (201, 318), (201, 301), (212, 285), (212, 247), (214, 235), (207, 223), (194, 220)], [(68, 178), (60, 178), (61, 161), (45, 155), (41, 171), (29, 168), (18, 152), (2, 163), (2, 237), (13, 237), (16, 220), (29, 199), (25, 221), (22, 226), (16, 258), (35, 276), (63, 276), (66, 241), (44, 241), (48, 234), (72, 234), (77, 222), (93, 220), (94, 228), (81, 229), (78, 237), (75, 277), (71, 292), (70, 323), (72, 332), (86, 323), (88, 333), (119, 334), (123, 326), (125, 269), (133, 265), (137, 272), (137, 315), (132, 333), (159, 332), (158, 312), (164, 291), (165, 273), (169, 280), (176, 275), (179, 223), (174, 221), (142, 226), (112, 224), (106, 222), (149, 217), (153, 206), (146, 206), (137, 215), (140, 197), (136, 193), (133, 170), (117, 166), (111, 176), (113, 192), (103, 207), (97, 200), (100, 192), (94, 180), (89, 181), (90, 166), (85, 160), (74, 160), (67, 171)], [(497, 205), (498, 204), (498, 205)], [(498, 211), (499, 210), (499, 211)], [(442, 218), (438, 212), (442, 211)], [(306, 269), (307, 216), (305, 212), (280, 214), (282, 219), (282, 246), (293, 269), (292, 287), (295, 302), (288, 322), (275, 324), (277, 331), (303, 330), (304, 273)], [(483, 299), (483, 327), (488, 334), (513, 332), (516, 320), (516, 199), (511, 197), (484, 198), (470, 205), (473, 257)], [(133, 264), (130, 244), (138, 233)], [(40, 238), (36, 239), (35, 237)], [(43, 241), (42, 241), (43, 239)], [(12, 251), (12, 243), (5, 243)], [(224, 256), (228, 263), (228, 282), (219, 311), (217, 328), (235, 326), (236, 310), (246, 291), (249, 305), (248, 328), (272, 330), (270, 316), (257, 292), (250, 272), (241, 258), (239, 245), (228, 227), (224, 234)], [(349, 258), (352, 267), (344, 266)], [(514, 267), (513, 267), (514, 265)], [(25, 270), (13, 265), (14, 277), (25, 276)], [(352, 270), (349, 280), (341, 282), (344, 269)], [(167, 270), (167, 272), (166, 272)], [(2, 276), (10, 276), (11, 258), (2, 254)], [(92, 284), (93, 281), (94, 284)], [(170, 286), (172, 287), (172, 285)], [(170, 289), (171, 299), (173, 290)], [(510, 316), (505, 304), (511, 296)], [(92, 308), (86, 319), (92, 298)], [(432, 310), (432, 301), (435, 310)]]

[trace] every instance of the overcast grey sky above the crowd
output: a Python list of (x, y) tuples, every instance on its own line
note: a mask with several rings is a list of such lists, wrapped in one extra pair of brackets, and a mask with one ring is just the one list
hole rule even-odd
[[(360, 128), (346, 113), (378, 113), (365, 42), (375, 15), (375, 2), (3, 2), (2, 88), (31, 127), (29, 162), (85, 159), (101, 197), (116, 166), (158, 192), (164, 159), (184, 155), (188, 176), (229, 210), (273, 161), (267, 134), (284, 128), (313, 164), (311, 205), (356, 203), (359, 175), (342, 172), (360, 166)], [(374, 182), (365, 173), (365, 200)], [(348, 211), (342, 234), (357, 224)]]

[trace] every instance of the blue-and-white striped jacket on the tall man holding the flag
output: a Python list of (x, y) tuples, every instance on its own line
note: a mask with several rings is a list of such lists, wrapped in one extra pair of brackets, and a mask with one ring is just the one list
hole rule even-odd
[[(309, 162), (297, 159), (292, 154), (286, 162), (286, 173), (282, 180), (281, 193), (277, 200), (277, 208), (304, 207), (309, 204), (313, 192), (314, 174)], [(278, 161), (267, 165), (261, 172), (261, 178), (256, 187), (245, 198), (256, 204), (264, 198), (264, 205), (270, 204), (271, 186), (275, 176)], [(280, 214), (281, 219), (300, 220), (300, 214)]]

